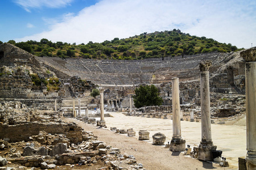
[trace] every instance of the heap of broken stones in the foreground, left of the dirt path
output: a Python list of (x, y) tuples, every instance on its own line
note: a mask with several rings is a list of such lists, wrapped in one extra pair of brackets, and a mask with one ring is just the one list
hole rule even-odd
[[(137, 164), (133, 155), (120, 154), (118, 148), (112, 148), (102, 141), (97, 141), (97, 136), (94, 136), (91, 131), (83, 131), (83, 135), (85, 141), (77, 145), (69, 143), (65, 135), (51, 135), (45, 131), (32, 136), (30, 142), (9, 143), (1, 140), (1, 159), (8, 163), (1, 166), (11, 167), (19, 164), (24, 167), (53, 169), (61, 166), (84, 165), (86, 169), (93, 164), (100, 164), (102, 168), (99, 169), (144, 169), (142, 164)], [(67, 143), (56, 143), (55, 139)]]

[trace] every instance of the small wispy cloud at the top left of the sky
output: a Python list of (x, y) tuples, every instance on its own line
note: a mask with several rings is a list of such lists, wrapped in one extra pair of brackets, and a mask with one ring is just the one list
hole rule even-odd
[(30, 12), (31, 8), (60, 8), (69, 5), (73, 0), (15, 0), (24, 10)]

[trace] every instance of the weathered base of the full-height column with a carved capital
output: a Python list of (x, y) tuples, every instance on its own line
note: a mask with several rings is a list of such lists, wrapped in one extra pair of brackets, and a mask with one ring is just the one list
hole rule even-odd
[(216, 151), (217, 146), (212, 142), (201, 142), (199, 145), (198, 157), (199, 160), (213, 160), (212, 151)]

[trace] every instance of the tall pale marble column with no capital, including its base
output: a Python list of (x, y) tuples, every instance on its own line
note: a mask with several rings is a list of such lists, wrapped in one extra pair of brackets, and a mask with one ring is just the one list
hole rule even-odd
[(181, 138), (179, 78), (172, 78), (172, 140), (170, 150), (185, 151), (185, 140)]

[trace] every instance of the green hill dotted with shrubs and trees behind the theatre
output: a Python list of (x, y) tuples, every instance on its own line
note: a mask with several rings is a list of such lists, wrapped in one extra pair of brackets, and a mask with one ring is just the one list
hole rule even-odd
[[(19, 48), (36, 56), (49, 57), (76, 57), (93, 59), (143, 59), (167, 56), (183, 56), (208, 52), (231, 52), (237, 49), (232, 44), (220, 43), (206, 37), (191, 36), (179, 29), (135, 35), (127, 39), (114, 38), (101, 43), (88, 42), (88, 44), (67, 42), (52, 42), (47, 39), (37, 41), (15, 42), (8, 41)], [(3, 42), (0, 41), (0, 44)]]

